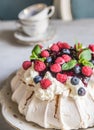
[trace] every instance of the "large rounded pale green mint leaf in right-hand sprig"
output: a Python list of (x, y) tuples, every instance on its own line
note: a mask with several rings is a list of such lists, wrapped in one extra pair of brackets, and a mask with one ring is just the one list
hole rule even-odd
[(91, 52), (89, 49), (87, 50), (83, 50), (80, 55), (79, 55), (79, 59), (84, 59), (86, 61), (91, 60)]

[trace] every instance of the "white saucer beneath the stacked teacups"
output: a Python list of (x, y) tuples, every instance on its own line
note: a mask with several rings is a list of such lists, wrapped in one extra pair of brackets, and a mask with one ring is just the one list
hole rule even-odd
[(54, 26), (50, 25), (44, 34), (38, 35), (37, 37), (36, 36), (28, 36), (22, 31), (22, 29), (20, 27), (14, 33), (14, 37), (21, 44), (32, 45), (33, 43), (45, 42), (45, 41), (51, 40), (55, 36), (55, 32), (56, 32), (56, 30), (55, 30)]

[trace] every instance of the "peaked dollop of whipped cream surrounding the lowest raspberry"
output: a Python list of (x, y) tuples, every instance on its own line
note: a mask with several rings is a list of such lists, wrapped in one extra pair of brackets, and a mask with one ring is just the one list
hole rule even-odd
[(36, 84), (34, 89), (35, 95), (41, 100), (52, 100), (54, 99), (55, 95), (60, 95), (67, 89), (64, 84), (53, 78), (50, 72), (46, 72), (44, 78), (50, 79), (52, 84), (48, 89), (42, 89), (40, 83)]

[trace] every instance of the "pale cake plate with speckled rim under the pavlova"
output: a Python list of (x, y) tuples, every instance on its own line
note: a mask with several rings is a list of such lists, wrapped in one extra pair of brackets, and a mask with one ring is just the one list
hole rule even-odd
[[(2, 86), (0, 90), (0, 103), (2, 106), (2, 115), (5, 120), (15, 129), (19, 130), (55, 130), (55, 129), (44, 129), (35, 123), (27, 122), (19, 112), (17, 104), (11, 101), (11, 89), (10, 81), (14, 74), (12, 74)], [(82, 129), (80, 129), (82, 130)], [(94, 128), (88, 128), (86, 130), (94, 130)]]

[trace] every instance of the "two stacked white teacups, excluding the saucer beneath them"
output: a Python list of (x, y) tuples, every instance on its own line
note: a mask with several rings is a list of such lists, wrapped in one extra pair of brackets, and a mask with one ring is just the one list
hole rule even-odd
[(49, 26), (49, 18), (54, 14), (54, 6), (35, 4), (18, 14), (22, 30), (30, 36), (43, 34)]

